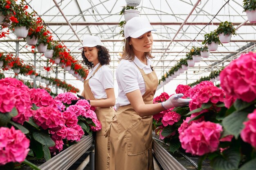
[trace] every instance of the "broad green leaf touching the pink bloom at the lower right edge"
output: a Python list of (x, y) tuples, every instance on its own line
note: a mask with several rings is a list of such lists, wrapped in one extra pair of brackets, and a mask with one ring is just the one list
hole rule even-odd
[(247, 120), (247, 115), (249, 112), (243, 111), (235, 111), (231, 113), (229, 116), (225, 117), (222, 120), (223, 127), (227, 130), (227, 133), (234, 135), (237, 139), (240, 132), (244, 128), (243, 122)]

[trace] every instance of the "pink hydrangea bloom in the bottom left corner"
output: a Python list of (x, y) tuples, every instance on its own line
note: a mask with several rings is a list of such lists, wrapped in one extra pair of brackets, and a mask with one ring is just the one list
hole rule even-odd
[(20, 130), (0, 127), (0, 166), (9, 162), (23, 162), (29, 152), (29, 139)]

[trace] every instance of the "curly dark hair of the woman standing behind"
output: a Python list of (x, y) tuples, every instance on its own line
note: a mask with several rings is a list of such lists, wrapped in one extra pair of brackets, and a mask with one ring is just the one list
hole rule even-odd
[[(96, 46), (96, 48), (99, 50), (98, 51), (98, 59), (99, 59), (99, 62), (101, 63), (101, 65), (109, 65), (110, 54), (108, 53), (108, 49), (103, 46)], [(82, 63), (84, 65), (86, 65), (88, 67), (88, 69), (92, 69), (93, 63), (88, 61), (88, 59), (86, 59), (84, 50), (82, 50), (81, 54), (82, 54), (82, 58), (83, 58)]]

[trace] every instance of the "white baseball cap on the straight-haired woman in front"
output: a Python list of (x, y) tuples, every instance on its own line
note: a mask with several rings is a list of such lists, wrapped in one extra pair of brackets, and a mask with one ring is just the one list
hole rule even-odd
[(149, 32), (157, 31), (149, 23), (148, 19), (141, 17), (133, 17), (124, 25), (124, 38), (138, 38), (141, 35)]

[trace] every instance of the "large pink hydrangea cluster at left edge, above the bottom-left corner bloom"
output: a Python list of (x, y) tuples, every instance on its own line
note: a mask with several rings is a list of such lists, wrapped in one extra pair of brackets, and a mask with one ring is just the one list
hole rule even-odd
[(0, 112), (10, 112), (16, 107), (18, 115), (13, 117), (14, 122), (23, 124), (33, 115), (29, 88), (16, 78), (0, 80)]

